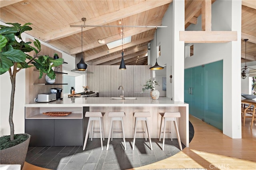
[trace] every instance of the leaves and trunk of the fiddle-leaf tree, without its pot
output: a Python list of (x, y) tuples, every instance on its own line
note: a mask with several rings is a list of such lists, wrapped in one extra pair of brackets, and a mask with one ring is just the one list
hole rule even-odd
[[(10, 124), (10, 140), (14, 140), (14, 124), (12, 121), (14, 109), (14, 93), (16, 85), (16, 74), (23, 68), (35, 66), (39, 70), (39, 78), (46, 73), (51, 79), (56, 77), (52, 67), (59, 66), (63, 63), (63, 59), (53, 59), (46, 55), (38, 55), (41, 51), (40, 42), (35, 39), (34, 46), (31, 42), (24, 42), (21, 34), (25, 31), (32, 30), (28, 25), (31, 23), (6, 23), (12, 26), (0, 25), (0, 74), (9, 72), (12, 84), (9, 124)], [(17, 41), (19, 39), (19, 41)], [(28, 55), (28, 52), (34, 51), (35, 56)]]

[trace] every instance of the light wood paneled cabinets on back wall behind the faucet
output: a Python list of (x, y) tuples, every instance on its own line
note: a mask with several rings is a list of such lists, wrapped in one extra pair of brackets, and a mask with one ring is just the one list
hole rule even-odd
[[(111, 66), (88, 66), (88, 71), (94, 74), (87, 74), (87, 85), (90, 90), (99, 91), (100, 97), (120, 97), (122, 85), (126, 97), (148, 97), (150, 93), (134, 94), (142, 92), (141, 84), (145, 84), (151, 77), (150, 66), (140, 65), (126, 66), (126, 70), (119, 70), (118, 65)], [(148, 91), (150, 92), (150, 91)]]

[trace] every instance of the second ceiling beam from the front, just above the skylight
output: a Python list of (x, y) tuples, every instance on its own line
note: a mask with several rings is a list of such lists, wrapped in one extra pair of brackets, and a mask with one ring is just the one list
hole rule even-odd
[[(156, 21), (154, 23), (150, 23), (149, 25), (159, 25), (161, 24), (162, 21)], [(153, 27), (147, 27), (147, 28), (141, 28), (141, 27), (136, 27), (134, 29), (130, 29), (128, 31), (125, 31), (124, 32), (124, 35), (125, 37), (129, 37), (129, 36), (132, 36), (132, 35), (136, 35), (136, 34), (139, 34), (139, 33), (142, 33), (142, 32), (145, 32), (145, 31), (149, 31), (151, 29), (155, 29)], [(125, 38), (124, 37), (124, 38)], [(110, 42), (113, 42), (113, 41), (116, 41), (118, 39), (121, 39), (120, 38), (120, 35), (117, 34), (117, 35), (113, 35), (111, 37), (108, 37), (108, 38), (104, 38), (104, 39), (101, 39), (102, 44), (98, 43), (98, 41), (95, 41), (95, 42), (92, 42), (90, 44), (86, 44), (86, 45), (83, 45), (83, 51), (87, 51), (89, 49), (93, 49), (93, 48), (96, 48), (96, 47), (100, 47), (102, 45), (105, 45), (107, 43), (110, 43)], [(74, 54), (77, 54), (77, 53), (81, 53), (81, 50), (82, 50), (82, 47), (79, 46), (79, 47), (76, 47), (74, 49), (70, 49), (70, 55), (74, 55)]]

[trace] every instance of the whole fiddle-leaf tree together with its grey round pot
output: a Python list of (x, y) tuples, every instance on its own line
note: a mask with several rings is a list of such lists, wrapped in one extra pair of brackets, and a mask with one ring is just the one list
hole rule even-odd
[[(21, 34), (25, 31), (32, 30), (32, 28), (28, 26), (31, 23), (25, 23), (24, 25), (21, 25), (20, 23), (7, 24), (10, 24), (11, 26), (0, 25), (0, 74), (9, 72), (12, 84), (9, 111), (10, 135), (0, 137), (0, 164), (21, 164), (22, 169), (26, 158), (26, 152), (28, 151), (30, 135), (14, 135), (14, 123), (12, 117), (16, 75), (18, 75), (17, 73), (23, 68), (35, 66), (40, 72), (39, 78), (42, 78), (43, 73), (46, 73), (51, 79), (54, 79), (56, 75), (52, 70), (52, 67), (62, 64), (63, 59), (54, 60), (46, 55), (38, 55), (41, 51), (41, 45), (37, 39), (34, 41), (35, 47), (30, 45), (31, 42), (25, 43), (22, 40)], [(28, 55), (28, 52), (30, 51), (34, 51), (36, 55), (33, 57)], [(20, 153), (20, 151), (25, 153)], [(18, 162), (16, 162), (16, 158)]]

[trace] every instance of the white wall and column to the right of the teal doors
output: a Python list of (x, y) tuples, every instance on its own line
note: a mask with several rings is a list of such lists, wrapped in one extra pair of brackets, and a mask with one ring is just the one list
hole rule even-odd
[[(187, 30), (200, 30), (197, 25)], [(223, 59), (223, 133), (241, 138), (241, 1), (219, 0), (212, 4), (212, 31), (237, 31), (238, 41), (229, 43), (194, 43), (194, 55), (185, 59), (185, 68)]]

